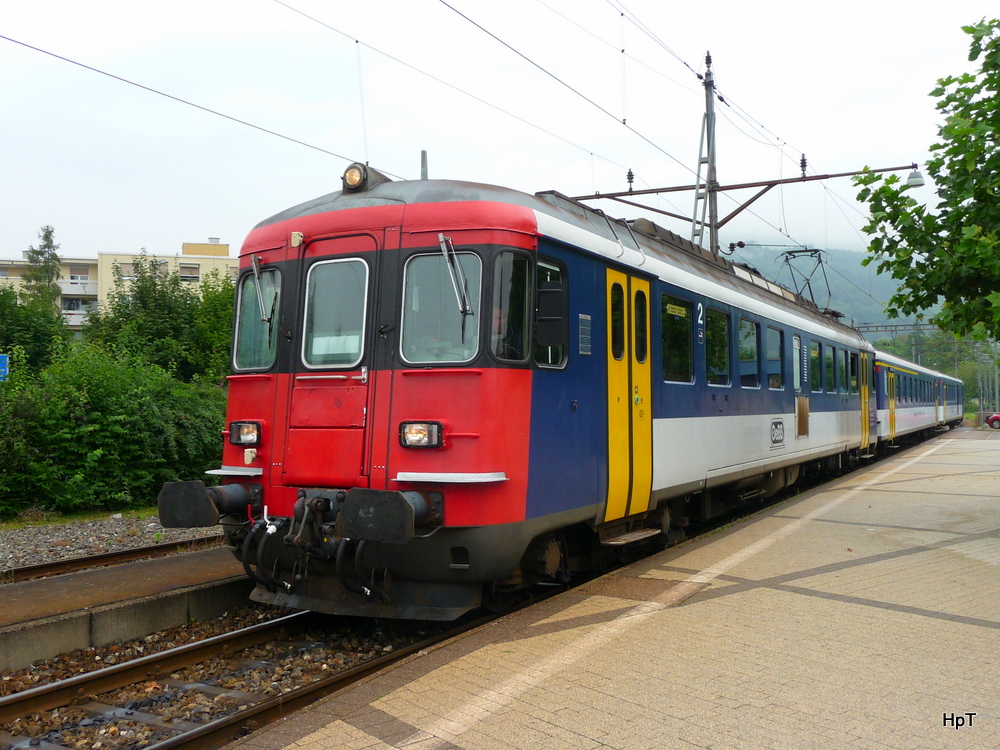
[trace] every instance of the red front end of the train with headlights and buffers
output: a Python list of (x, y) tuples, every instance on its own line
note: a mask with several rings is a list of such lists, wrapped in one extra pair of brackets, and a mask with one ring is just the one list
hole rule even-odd
[(221, 520), (253, 598), (317, 611), (451, 619), (564, 576), (525, 523), (528, 363), (565, 337), (533, 212), (344, 181), (244, 243), (222, 485), (165, 486), (161, 521)]

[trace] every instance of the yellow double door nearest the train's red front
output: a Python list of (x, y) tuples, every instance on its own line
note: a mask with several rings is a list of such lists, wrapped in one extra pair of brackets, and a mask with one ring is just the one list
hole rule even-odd
[(608, 488), (599, 522), (644, 513), (653, 481), (649, 281), (607, 271)]

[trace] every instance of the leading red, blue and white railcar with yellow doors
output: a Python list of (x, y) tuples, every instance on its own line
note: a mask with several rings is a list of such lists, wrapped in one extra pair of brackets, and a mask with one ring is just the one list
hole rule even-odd
[(259, 601), (452, 619), (870, 455), (908, 408), (880, 432), (876, 361), (904, 365), (835, 317), (555, 192), (352, 165), (240, 269), (221, 484), (159, 510), (223, 524)]

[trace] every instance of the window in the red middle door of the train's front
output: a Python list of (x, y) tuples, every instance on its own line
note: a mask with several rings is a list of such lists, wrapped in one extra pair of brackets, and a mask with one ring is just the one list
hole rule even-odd
[(361, 361), (368, 304), (364, 261), (315, 263), (306, 278), (302, 359), (307, 367), (352, 367)]

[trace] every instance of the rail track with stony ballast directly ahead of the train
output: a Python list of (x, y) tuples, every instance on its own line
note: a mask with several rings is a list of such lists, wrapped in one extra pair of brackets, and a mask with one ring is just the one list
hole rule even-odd
[[(0, 747), (39, 750), (94, 746), (105, 750), (217, 748), (252, 728), (274, 721), (496, 616), (452, 624), (430, 637), (414, 629), (407, 645), (393, 647), (367, 660), (361, 657), (358, 661), (362, 663), (342, 669), (331, 669), (329, 662), (317, 663), (314, 674), (305, 675), (308, 679), (304, 684), (282, 688), (275, 694), (224, 686), (227, 672), (238, 673), (252, 667), (259, 672), (277, 674), (283, 671), (278, 665), (288, 653), (301, 654), (310, 648), (327, 646), (308, 639), (295, 640), (316, 625), (319, 619), (316, 615), (310, 612), (288, 615), (0, 698), (0, 725), (3, 727)], [(265, 644), (272, 649), (272, 656), (267, 659), (254, 653), (241, 655), (241, 652)], [(212, 663), (213, 677), (207, 681), (184, 679), (185, 670), (206, 662)], [(149, 696), (150, 700), (135, 700), (136, 693)], [(202, 710), (203, 721), (178, 719), (178, 712), (171, 711), (172, 699), (190, 700), (192, 695), (211, 704), (213, 713)], [(222, 710), (216, 713), (217, 709)]]

